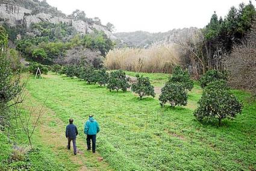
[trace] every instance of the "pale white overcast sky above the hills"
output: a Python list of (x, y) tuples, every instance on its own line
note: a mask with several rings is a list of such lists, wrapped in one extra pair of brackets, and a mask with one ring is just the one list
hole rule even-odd
[[(111, 22), (116, 32), (149, 31), (151, 33), (196, 26), (202, 28), (216, 11), (224, 17), (231, 6), (249, 0), (47, 0), (65, 14), (79, 9), (87, 17)], [(255, 5), (256, 1), (252, 0)]]

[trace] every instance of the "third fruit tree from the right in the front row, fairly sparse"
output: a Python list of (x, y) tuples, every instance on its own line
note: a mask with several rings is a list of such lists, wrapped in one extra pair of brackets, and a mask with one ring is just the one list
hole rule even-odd
[(140, 96), (140, 100), (143, 96), (155, 97), (154, 87), (150, 84), (148, 77), (136, 75), (137, 81), (131, 85), (131, 90)]

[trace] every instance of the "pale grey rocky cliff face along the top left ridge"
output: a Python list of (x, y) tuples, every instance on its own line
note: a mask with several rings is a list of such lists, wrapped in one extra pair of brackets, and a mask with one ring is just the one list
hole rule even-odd
[[(25, 3), (26, 2), (26, 3)], [(36, 4), (37, 3), (37, 4)], [(116, 40), (110, 31), (104, 25), (97, 25), (95, 23), (87, 23), (84, 20), (70, 19), (65, 14), (57, 11), (54, 7), (48, 4), (42, 8), (39, 1), (26, 0), (23, 1), (0, 1), (0, 23), (7, 22), (11, 26), (23, 25), (27, 28), (31, 23), (50, 22), (50, 23), (67, 23), (72, 25), (78, 33), (87, 34), (92, 33), (94, 29), (104, 31), (112, 40)], [(33, 7), (34, 5), (34, 7)]]

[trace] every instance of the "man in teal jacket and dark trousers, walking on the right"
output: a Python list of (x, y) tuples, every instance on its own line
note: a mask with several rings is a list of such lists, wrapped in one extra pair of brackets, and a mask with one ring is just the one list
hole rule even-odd
[(96, 148), (96, 134), (99, 132), (99, 124), (93, 119), (93, 116), (89, 116), (89, 120), (84, 124), (84, 134), (87, 135), (87, 151), (91, 149), (91, 140), (92, 140), (92, 152), (95, 153)]

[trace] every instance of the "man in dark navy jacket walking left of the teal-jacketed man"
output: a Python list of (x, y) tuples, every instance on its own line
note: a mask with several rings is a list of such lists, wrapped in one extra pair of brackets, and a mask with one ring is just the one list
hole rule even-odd
[(70, 142), (73, 142), (73, 154), (76, 155), (76, 135), (78, 131), (75, 125), (73, 125), (73, 119), (69, 119), (69, 125), (66, 127), (67, 149), (70, 149)]

